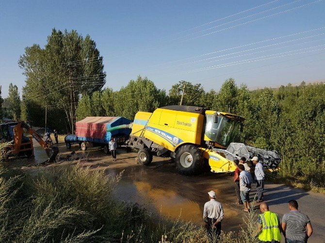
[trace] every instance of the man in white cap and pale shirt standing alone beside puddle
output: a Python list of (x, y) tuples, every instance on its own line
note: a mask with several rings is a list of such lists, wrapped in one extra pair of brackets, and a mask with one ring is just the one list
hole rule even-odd
[[(211, 239), (219, 237), (221, 233), (221, 221), (224, 219), (224, 209), (220, 202), (215, 200), (215, 192), (208, 192), (210, 201), (204, 204), (203, 219), (205, 228)], [(213, 233), (212, 233), (213, 232)]]

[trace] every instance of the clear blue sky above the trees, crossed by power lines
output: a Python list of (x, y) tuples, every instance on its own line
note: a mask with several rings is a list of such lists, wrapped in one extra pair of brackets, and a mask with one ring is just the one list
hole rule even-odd
[(250, 88), (324, 81), (325, 0), (315, 1), (2, 0), (2, 95), (10, 82), (21, 91), (19, 56), (26, 46), (44, 46), (52, 28), (89, 34), (104, 57), (105, 86), (114, 90), (138, 75), (167, 91), (180, 80), (206, 91), (228, 77)]

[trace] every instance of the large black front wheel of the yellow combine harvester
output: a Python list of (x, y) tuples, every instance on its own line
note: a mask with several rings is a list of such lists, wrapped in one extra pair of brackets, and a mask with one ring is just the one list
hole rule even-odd
[(191, 176), (202, 172), (204, 162), (198, 148), (184, 145), (176, 152), (175, 164), (179, 174)]

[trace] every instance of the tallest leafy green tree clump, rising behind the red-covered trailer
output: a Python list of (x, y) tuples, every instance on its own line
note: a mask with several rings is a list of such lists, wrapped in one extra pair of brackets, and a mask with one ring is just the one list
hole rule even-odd
[(95, 41), (89, 35), (82, 37), (76, 30), (53, 29), (45, 47), (36, 44), (26, 47), (18, 64), (26, 76), (23, 97), (28, 112), (25, 113), (33, 116), (35, 110), (51, 106), (53, 112), (66, 115), (66, 122), (49, 121), (50, 127), (60, 125), (63, 129), (65, 123), (71, 124), (68, 104), (77, 106), (81, 93), (100, 91), (105, 84), (103, 59)]

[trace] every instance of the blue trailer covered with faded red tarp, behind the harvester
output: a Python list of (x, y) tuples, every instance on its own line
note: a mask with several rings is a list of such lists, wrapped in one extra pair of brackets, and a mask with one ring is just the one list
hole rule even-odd
[(65, 145), (79, 144), (82, 151), (101, 146), (109, 153), (108, 143), (114, 137), (117, 145), (124, 145), (130, 135), (129, 119), (124, 117), (86, 117), (76, 122), (76, 134), (65, 137)]

